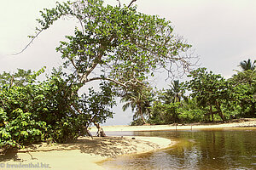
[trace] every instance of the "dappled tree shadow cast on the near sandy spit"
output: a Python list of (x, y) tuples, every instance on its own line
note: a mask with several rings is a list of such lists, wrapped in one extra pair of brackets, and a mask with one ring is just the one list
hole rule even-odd
[(53, 151), (53, 150), (80, 150), (81, 153), (116, 157), (120, 155), (136, 153), (137, 144), (144, 144), (146, 147), (156, 148), (155, 144), (137, 139), (127, 139), (122, 137), (96, 137), (81, 138), (67, 144), (33, 144), (27, 145), (25, 150), (9, 150), (4, 156), (0, 155), (0, 161), (26, 161), (18, 157), (18, 153), (27, 153), (31, 159), (35, 151)]

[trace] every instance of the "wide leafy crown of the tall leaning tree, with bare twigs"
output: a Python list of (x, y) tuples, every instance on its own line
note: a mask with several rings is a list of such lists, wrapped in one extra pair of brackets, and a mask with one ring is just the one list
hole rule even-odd
[[(71, 86), (81, 88), (101, 80), (121, 91), (131, 91), (146, 85), (156, 70), (164, 70), (168, 76), (173, 71), (189, 71), (193, 57), (187, 51), (191, 45), (173, 33), (170, 21), (137, 12), (134, 2), (116, 7), (102, 0), (56, 3), (55, 8), (41, 11), (37, 33), (30, 36), (26, 48), (56, 20), (68, 17), (78, 20), (79, 25), (56, 50), (65, 59), (64, 67), (73, 70), (67, 75)], [(78, 93), (76, 89), (73, 94)], [(73, 104), (72, 110), (83, 112), (83, 107)]]

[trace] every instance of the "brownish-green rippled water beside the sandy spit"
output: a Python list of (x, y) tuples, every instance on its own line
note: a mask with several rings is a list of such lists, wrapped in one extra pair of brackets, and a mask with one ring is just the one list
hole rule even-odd
[(106, 169), (256, 169), (256, 127), (120, 135), (157, 136), (178, 143), (165, 150), (105, 161)]

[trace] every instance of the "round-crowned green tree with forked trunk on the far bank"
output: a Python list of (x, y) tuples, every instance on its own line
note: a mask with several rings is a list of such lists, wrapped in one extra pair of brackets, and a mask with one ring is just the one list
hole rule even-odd
[(208, 72), (206, 68), (191, 71), (189, 77), (192, 79), (187, 82), (188, 88), (198, 105), (208, 111), (206, 115), (212, 115), (212, 122), (214, 114), (218, 114), (224, 121), (223, 105), (228, 105), (232, 100), (232, 88), (229, 82), (224, 77), (213, 74), (212, 71)]

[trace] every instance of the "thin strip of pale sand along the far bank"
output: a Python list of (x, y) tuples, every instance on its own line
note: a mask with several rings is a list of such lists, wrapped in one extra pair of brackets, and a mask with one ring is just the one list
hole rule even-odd
[[(126, 131), (160, 131), (160, 130), (193, 130), (193, 129), (214, 129), (234, 127), (256, 127), (256, 118), (237, 120), (238, 122), (213, 122), (213, 123), (191, 123), (171, 125), (143, 125), (143, 126), (102, 126), (105, 132), (126, 132)], [(96, 133), (96, 127), (91, 127), (90, 132)]]

